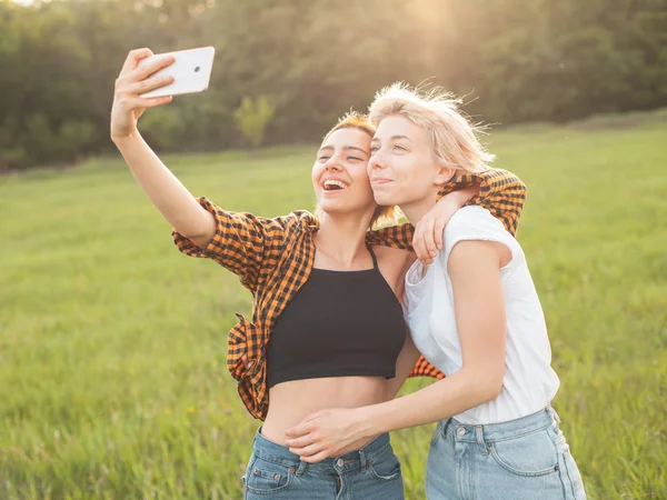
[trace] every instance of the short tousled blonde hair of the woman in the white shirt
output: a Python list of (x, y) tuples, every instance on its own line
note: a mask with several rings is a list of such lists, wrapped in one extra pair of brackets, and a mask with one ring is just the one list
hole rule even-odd
[(428, 132), (434, 156), (442, 167), (480, 172), (489, 168), (495, 156), (480, 143), (482, 127), (464, 116), (461, 103), (439, 88), (427, 92), (397, 82), (376, 93), (369, 117), (375, 127), (387, 117), (405, 117)]

